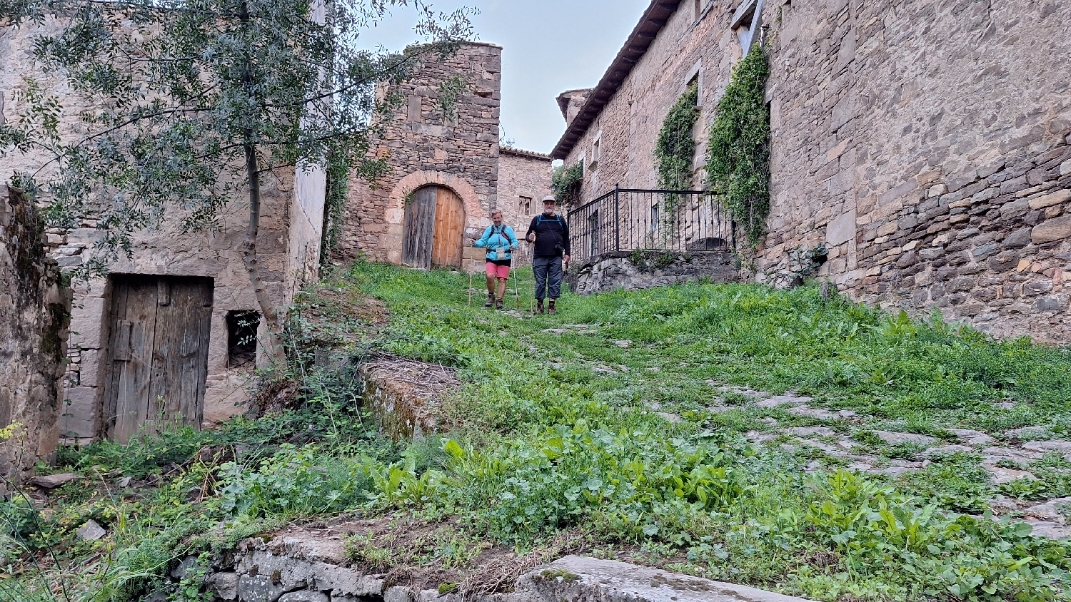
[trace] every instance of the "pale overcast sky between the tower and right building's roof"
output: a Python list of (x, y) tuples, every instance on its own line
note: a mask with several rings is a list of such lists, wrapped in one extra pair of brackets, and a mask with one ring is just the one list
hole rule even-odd
[[(599, 82), (649, 0), (431, 0), (437, 11), (480, 10), (481, 42), (502, 46), (502, 127), (516, 146), (549, 153), (565, 129), (555, 98)], [(399, 50), (417, 41), (416, 14), (396, 9), (364, 36)]]

